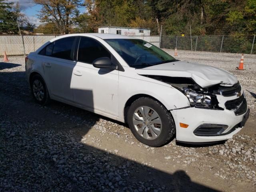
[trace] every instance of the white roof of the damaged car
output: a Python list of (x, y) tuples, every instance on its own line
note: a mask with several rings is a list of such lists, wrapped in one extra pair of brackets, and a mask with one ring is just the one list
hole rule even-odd
[(107, 33), (78, 33), (78, 34), (68, 34), (61, 36), (62, 38), (68, 36), (96, 36), (102, 39), (136, 39), (132, 36), (118, 35), (118, 34), (107, 34)]

